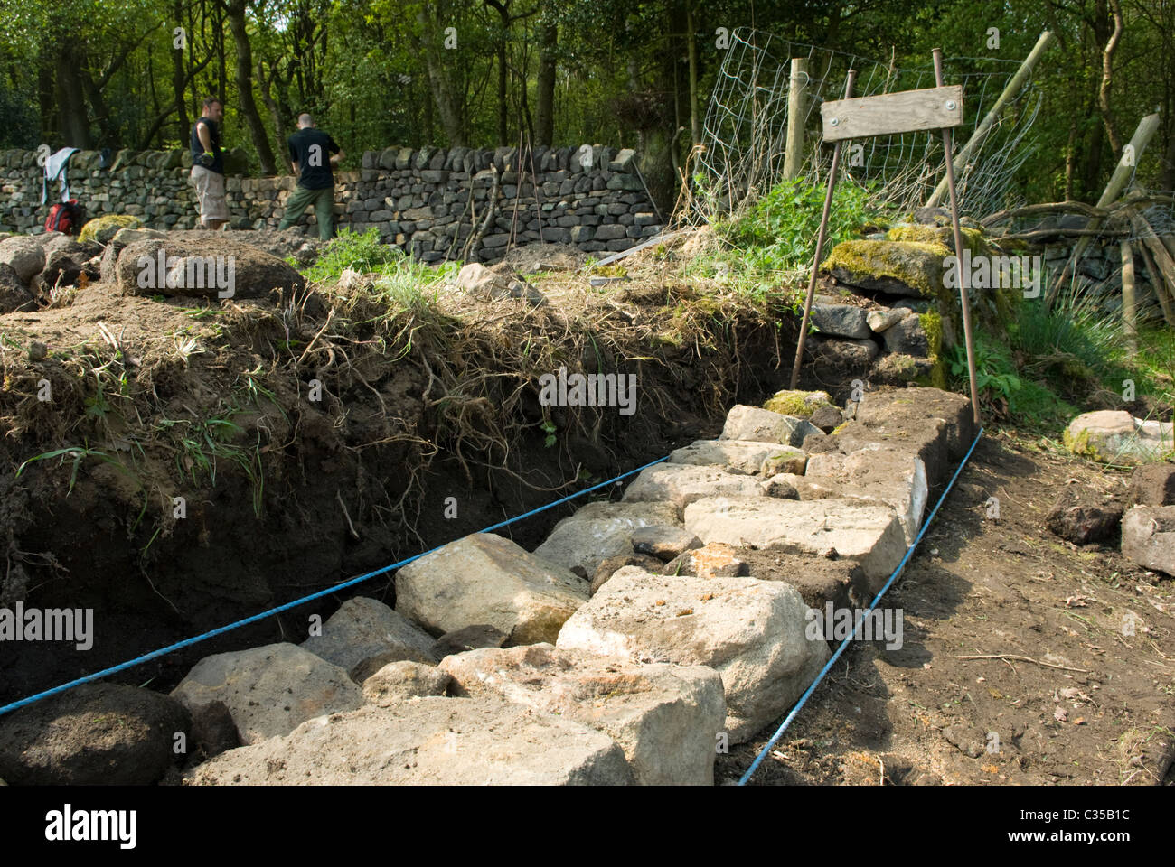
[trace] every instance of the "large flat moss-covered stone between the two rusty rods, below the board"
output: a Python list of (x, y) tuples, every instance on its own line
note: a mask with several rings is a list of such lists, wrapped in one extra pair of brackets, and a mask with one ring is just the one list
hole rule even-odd
[(951, 250), (926, 241), (844, 241), (820, 266), (842, 283), (914, 297), (939, 297)]

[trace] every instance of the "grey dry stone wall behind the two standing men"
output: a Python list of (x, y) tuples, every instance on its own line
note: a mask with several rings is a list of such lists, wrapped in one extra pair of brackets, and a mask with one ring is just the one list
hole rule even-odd
[[(96, 152), (83, 150), (68, 166), (70, 195), (87, 216), (133, 214), (154, 229), (195, 228), (186, 150), (122, 150), (109, 169), (99, 163)], [(496, 262), (511, 242), (558, 242), (604, 254), (662, 230), (637, 155), (627, 149), (387, 148), (364, 153), (358, 172), (337, 172), (335, 181), (338, 227), (375, 227), (385, 242), (425, 262)], [(48, 203), (40, 203), (35, 152), (0, 152), (0, 231), (40, 231), (59, 194), (54, 182)], [(291, 176), (229, 175), (231, 227), (276, 228), (294, 188)], [(314, 223), (309, 210), (303, 220)]]

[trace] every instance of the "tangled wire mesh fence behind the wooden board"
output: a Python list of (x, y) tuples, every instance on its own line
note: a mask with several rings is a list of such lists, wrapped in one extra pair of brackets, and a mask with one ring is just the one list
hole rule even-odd
[[(854, 96), (873, 96), (935, 86), (931, 65), (899, 68), (855, 54), (818, 48), (739, 28), (731, 33), (718, 80), (706, 108), (701, 147), (693, 163), (696, 194), (687, 219), (710, 221), (737, 214), (784, 176), (787, 144), (791, 59), (806, 58), (801, 174), (826, 176), (832, 149), (819, 146), (820, 106), (844, 96), (850, 69), (857, 70)], [(964, 125), (955, 128), (955, 153), (971, 137), (1020, 66), (1018, 60), (947, 58), (944, 82), (964, 86)], [(1032, 81), (1007, 103), (991, 133), (956, 173), (960, 208), (973, 215), (1015, 207), (1012, 180), (1032, 154), (1029, 135), (1041, 92)], [(944, 176), (946, 161), (938, 130), (847, 142), (845, 172), (872, 190), (878, 202), (909, 210), (926, 202)]]

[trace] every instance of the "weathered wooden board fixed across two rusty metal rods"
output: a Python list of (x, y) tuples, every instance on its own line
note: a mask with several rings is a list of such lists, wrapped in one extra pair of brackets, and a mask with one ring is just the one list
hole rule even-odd
[(825, 102), (820, 116), (825, 141), (958, 127), (962, 123), (962, 86)]

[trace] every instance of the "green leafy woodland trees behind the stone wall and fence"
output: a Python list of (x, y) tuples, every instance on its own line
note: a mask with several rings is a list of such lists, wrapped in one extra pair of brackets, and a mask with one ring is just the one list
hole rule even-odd
[(1052, 29), (1021, 191), (1096, 199), (1155, 110), (1140, 174), (1175, 187), (1166, 0), (0, 0), (0, 147), (184, 147), (216, 95), (226, 144), (263, 174), (284, 170), (284, 137), (309, 112), (352, 166), (392, 144), (600, 142), (643, 150), (670, 184), (723, 60), (719, 28), (899, 67), (935, 46), (1020, 60)]

